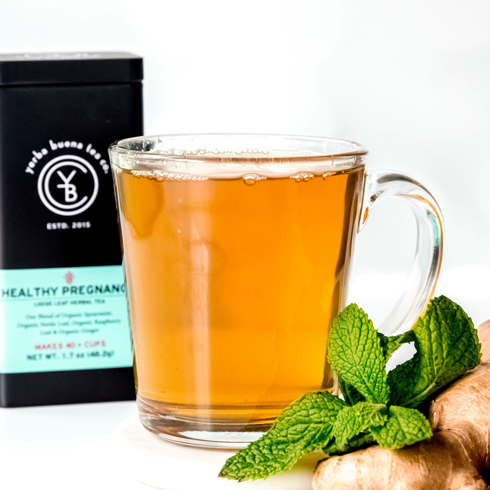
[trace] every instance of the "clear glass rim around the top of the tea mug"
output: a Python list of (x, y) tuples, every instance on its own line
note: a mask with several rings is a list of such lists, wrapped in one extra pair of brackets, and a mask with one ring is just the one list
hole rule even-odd
[[(264, 138), (265, 141), (267, 139), (275, 139), (276, 141), (280, 140), (297, 140), (308, 142), (318, 143), (318, 144), (333, 144), (333, 145), (345, 145), (350, 146), (350, 149), (343, 151), (319, 151), (314, 154), (296, 154), (294, 156), (270, 156), (267, 153), (258, 152), (258, 151), (242, 151), (241, 154), (230, 156), (221, 155), (219, 151), (216, 151), (208, 154), (200, 154), (200, 153), (172, 153), (166, 154), (161, 150), (151, 151), (144, 149), (132, 149), (129, 147), (123, 146), (124, 143), (140, 143), (144, 145), (147, 143), (149, 146), (151, 143), (155, 141), (163, 142), (164, 139), (188, 139), (192, 141), (193, 138), (213, 138), (213, 137), (221, 137), (221, 138)], [(281, 148), (275, 148), (281, 149)], [(299, 150), (300, 151), (300, 150)], [(131, 138), (123, 138), (121, 140), (117, 140), (109, 146), (109, 153), (118, 153), (127, 156), (131, 156), (132, 158), (141, 159), (141, 160), (199, 160), (201, 163), (215, 163), (222, 162), (223, 159), (226, 159), (229, 163), (236, 162), (249, 162), (251, 159), (260, 162), (279, 162), (280, 160), (287, 160), (290, 163), (295, 161), (304, 161), (307, 159), (310, 162), (317, 160), (324, 160), (325, 158), (333, 159), (333, 158), (348, 158), (351, 156), (362, 156), (368, 154), (368, 148), (360, 143), (356, 143), (350, 140), (344, 140), (340, 138), (329, 138), (323, 136), (302, 136), (302, 135), (283, 135), (283, 134), (268, 134), (268, 133), (176, 133), (176, 134), (166, 134), (166, 135), (153, 135), (153, 136), (135, 136)]]

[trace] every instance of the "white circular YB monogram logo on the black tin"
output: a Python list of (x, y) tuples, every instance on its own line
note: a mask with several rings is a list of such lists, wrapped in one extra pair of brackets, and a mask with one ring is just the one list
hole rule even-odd
[(57, 156), (39, 174), (37, 192), (53, 213), (77, 215), (88, 209), (97, 197), (97, 173), (79, 156)]

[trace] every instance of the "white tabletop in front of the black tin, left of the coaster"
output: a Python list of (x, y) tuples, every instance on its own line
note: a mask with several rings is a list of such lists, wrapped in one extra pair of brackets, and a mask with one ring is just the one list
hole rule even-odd
[(136, 402), (0, 409), (0, 488), (150, 489), (121, 474), (109, 435)]

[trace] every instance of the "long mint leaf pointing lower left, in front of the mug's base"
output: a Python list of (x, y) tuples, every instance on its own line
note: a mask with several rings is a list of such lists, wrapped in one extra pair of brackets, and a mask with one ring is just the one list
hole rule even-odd
[(329, 392), (303, 395), (284, 409), (272, 427), (228, 458), (221, 478), (256, 480), (291, 469), (309, 452), (332, 440), (332, 427), (345, 402)]

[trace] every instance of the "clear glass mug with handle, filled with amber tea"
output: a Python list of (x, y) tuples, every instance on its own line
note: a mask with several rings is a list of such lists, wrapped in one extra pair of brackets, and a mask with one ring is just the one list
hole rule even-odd
[(366, 172), (366, 147), (274, 135), (130, 138), (109, 148), (140, 420), (185, 444), (243, 447), (306, 392), (337, 392), (328, 327), (356, 233), (403, 199), (417, 220), (407, 286), (380, 331), (433, 294), (443, 224), (411, 177)]

